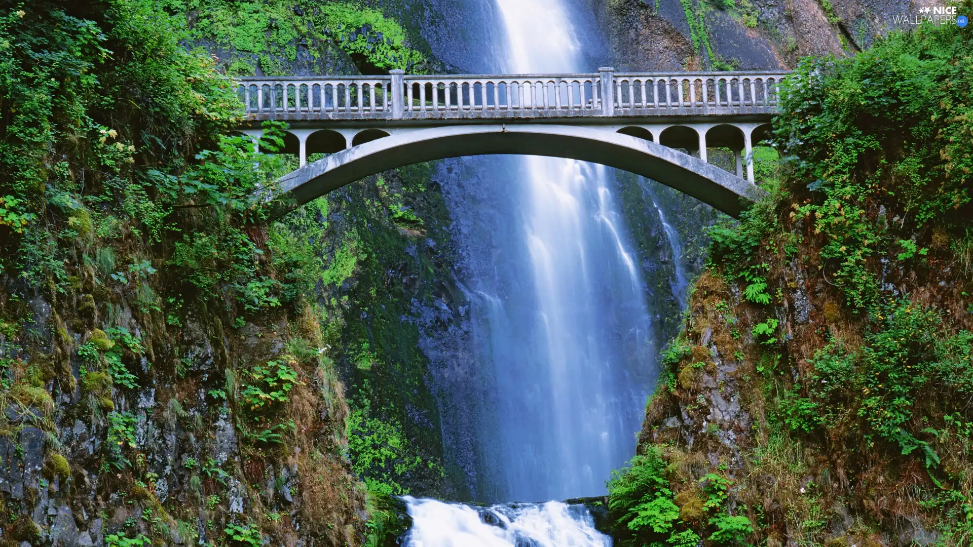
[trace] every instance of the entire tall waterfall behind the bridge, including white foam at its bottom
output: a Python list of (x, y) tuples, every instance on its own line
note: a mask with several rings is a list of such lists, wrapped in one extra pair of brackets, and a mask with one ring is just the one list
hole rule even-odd
[[(594, 71), (585, 55), (601, 46), (586, 44), (571, 6), (494, 2), (500, 38), (490, 47), (502, 55), (479, 68)], [(457, 334), (461, 357), (443, 357), (443, 341), (424, 343), (449, 397), (442, 421), (453, 476), (481, 501), (604, 494), (612, 469), (634, 454), (658, 375), (641, 260), (616, 203), (613, 171), (517, 156), (444, 163), (437, 176), (470, 304), (469, 322)], [(480, 384), (472, 385), (471, 370)], [(411, 547), (609, 544), (586, 524), (581, 506), (494, 506), (506, 519), (503, 529), (461, 504), (407, 501)], [(533, 543), (515, 537), (523, 529), (534, 530)], [(558, 529), (572, 531), (561, 537)]]

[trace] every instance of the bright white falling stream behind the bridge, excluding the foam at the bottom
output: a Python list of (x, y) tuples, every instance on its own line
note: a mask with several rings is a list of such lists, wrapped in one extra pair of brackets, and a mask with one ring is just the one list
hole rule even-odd
[[(585, 70), (565, 6), (496, 1), (507, 36), (504, 69)], [(500, 392), (501, 400), (514, 399), (509, 418), (518, 421), (500, 429), (507, 490), (516, 499), (595, 495), (604, 492), (611, 470), (631, 456), (640, 421), (645, 388), (636, 383), (628, 389), (624, 382), (631, 380), (626, 365), (651, 366), (649, 352), (631, 362), (631, 351), (644, 349), (648, 335), (642, 283), (607, 186), (607, 169), (551, 158), (520, 162), (539, 353), (527, 374), (511, 370), (515, 363), (495, 363), (498, 377), (527, 383)], [(539, 419), (537, 413), (547, 416)]]

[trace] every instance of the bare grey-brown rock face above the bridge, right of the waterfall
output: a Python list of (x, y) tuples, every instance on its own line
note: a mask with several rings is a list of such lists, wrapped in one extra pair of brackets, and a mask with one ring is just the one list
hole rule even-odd
[[(895, 16), (915, 15), (929, 0), (588, 0), (623, 70), (791, 68), (803, 55), (847, 55), (894, 29)], [(915, 5), (913, 5), (915, 4)], [(690, 21), (700, 19), (702, 25)], [(715, 58), (693, 26), (705, 32)], [(722, 64), (721, 64), (722, 63)], [(725, 66), (724, 66), (725, 65)]]

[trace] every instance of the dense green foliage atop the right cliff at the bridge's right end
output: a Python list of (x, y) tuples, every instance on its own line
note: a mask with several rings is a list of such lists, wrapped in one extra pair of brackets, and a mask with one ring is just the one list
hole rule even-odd
[[(806, 59), (784, 84), (775, 129), (795, 191), (823, 239), (829, 282), (853, 308), (880, 294), (879, 257), (925, 255), (913, 237), (936, 224), (959, 231), (970, 214), (973, 76), (954, 28), (892, 34), (847, 59)], [(881, 203), (894, 218), (878, 214)]]

